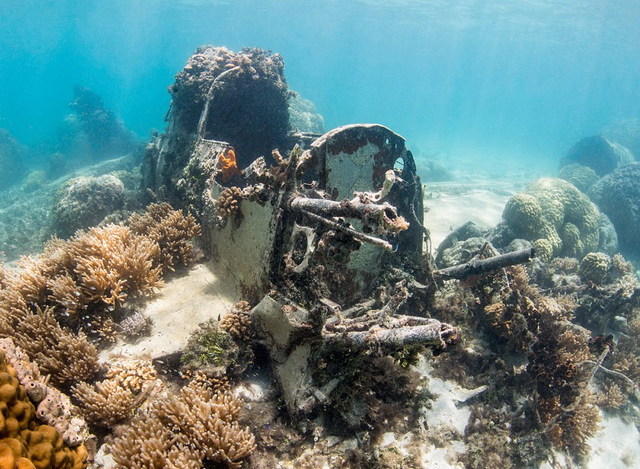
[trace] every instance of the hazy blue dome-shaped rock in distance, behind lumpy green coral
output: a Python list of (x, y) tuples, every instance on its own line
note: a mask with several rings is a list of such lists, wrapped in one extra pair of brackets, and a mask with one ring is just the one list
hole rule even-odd
[(560, 166), (578, 163), (604, 176), (633, 160), (633, 154), (627, 148), (602, 135), (595, 135), (583, 138), (572, 146), (560, 160)]

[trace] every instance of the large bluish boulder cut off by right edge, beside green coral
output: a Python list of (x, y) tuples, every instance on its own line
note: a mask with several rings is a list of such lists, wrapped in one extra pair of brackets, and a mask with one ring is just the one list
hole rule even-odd
[(616, 227), (620, 250), (625, 255), (640, 256), (640, 163), (602, 178), (589, 196)]

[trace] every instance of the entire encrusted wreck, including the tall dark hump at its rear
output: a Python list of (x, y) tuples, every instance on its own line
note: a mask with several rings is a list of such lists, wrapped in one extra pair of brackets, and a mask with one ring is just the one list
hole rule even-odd
[[(223, 56), (232, 63), (221, 68)], [(152, 199), (200, 219), (216, 274), (256, 305), (253, 323), (289, 411), (328, 405), (344, 377), (321, 378), (317, 364), (335, 350), (439, 353), (454, 344), (458, 330), (429, 317), (437, 277), (513, 259), (435, 270), (423, 188), (404, 138), (378, 124), (270, 135), (289, 115), (278, 57), (204, 48), (194, 58), (209, 69), (177, 75), (167, 131), (147, 147), (144, 186)], [(220, 141), (232, 135), (239, 151), (255, 154), (236, 158)], [(286, 153), (258, 156), (267, 142), (285, 140)]]

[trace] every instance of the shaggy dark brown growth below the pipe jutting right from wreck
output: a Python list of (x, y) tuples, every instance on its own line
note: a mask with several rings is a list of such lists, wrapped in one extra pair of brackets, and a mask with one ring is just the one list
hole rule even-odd
[[(560, 258), (553, 264), (574, 272), (578, 268), (577, 260)], [(460, 305), (467, 314), (459, 320), (478, 338), (467, 339), (469, 350), (455, 363), (446, 361), (444, 369), (436, 369), (436, 375), (461, 375), (466, 387), (487, 386), (474, 412), (489, 418), (468, 427), (465, 442), (471, 452), (465, 462), (469, 467), (487, 467), (492, 461), (534, 467), (548, 457), (550, 446), (579, 462), (600, 417), (589, 393), (597, 359), (588, 331), (571, 322), (576, 299), (564, 290), (543, 294), (529, 283), (523, 266), (469, 286), (473, 298)], [(499, 447), (504, 451), (496, 451)]]

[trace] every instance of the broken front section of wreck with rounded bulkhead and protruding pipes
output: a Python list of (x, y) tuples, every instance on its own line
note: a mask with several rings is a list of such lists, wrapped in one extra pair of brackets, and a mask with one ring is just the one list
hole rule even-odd
[(272, 164), (260, 157), (244, 169), (225, 142), (199, 137), (189, 148), (178, 185), (199, 211), (216, 272), (256, 304), (254, 324), (293, 414), (326, 402), (335, 386), (313, 378), (312, 357), (323, 347), (439, 353), (458, 331), (428, 317), (435, 277), (533, 255), (435, 271), (415, 162), (382, 125), (299, 135), (286, 158), (276, 151)]

